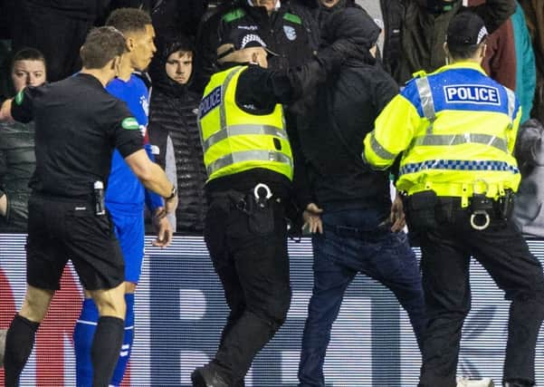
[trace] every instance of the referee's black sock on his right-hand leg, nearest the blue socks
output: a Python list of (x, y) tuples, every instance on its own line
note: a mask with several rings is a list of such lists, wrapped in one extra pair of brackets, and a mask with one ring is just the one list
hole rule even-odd
[(110, 385), (124, 334), (125, 322), (122, 319), (111, 316), (99, 318), (91, 347), (93, 387)]

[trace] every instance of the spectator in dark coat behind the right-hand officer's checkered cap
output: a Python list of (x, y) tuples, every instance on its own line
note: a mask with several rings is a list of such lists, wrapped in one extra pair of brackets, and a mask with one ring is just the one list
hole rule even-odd
[[(461, 0), (382, 0), (386, 25), (384, 64), (404, 84), (420, 70), (433, 72), (445, 64), (442, 46), (450, 20), (463, 9)], [(490, 33), (515, 11), (514, 0), (487, 0), (472, 7)]]

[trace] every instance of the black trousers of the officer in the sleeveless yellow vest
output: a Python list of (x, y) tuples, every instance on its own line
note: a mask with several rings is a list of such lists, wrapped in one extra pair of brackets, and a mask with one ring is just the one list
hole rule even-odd
[(243, 385), (291, 303), (283, 206), (274, 199), (269, 205), (268, 213), (253, 218), (232, 199), (215, 198), (205, 219), (205, 242), (231, 310), (211, 366), (229, 385)]

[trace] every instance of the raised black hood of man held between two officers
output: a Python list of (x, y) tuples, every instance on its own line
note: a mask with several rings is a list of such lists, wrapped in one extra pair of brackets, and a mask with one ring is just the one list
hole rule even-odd
[(358, 44), (366, 63), (376, 63), (369, 53), (377, 43), (381, 28), (363, 9), (347, 7), (332, 13), (321, 31), (321, 44), (333, 44), (339, 39), (346, 39)]

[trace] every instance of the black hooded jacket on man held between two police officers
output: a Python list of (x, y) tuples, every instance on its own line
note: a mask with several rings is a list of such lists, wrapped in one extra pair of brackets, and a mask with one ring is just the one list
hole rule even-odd
[(398, 92), (396, 82), (368, 53), (379, 28), (357, 8), (331, 14), (322, 30), (324, 42), (350, 37), (365, 57), (344, 63), (320, 87), (318, 104), (307, 125), (299, 123), (310, 187), (321, 208), (389, 210), (387, 172), (368, 169), (361, 160), (363, 139), (379, 112)]

